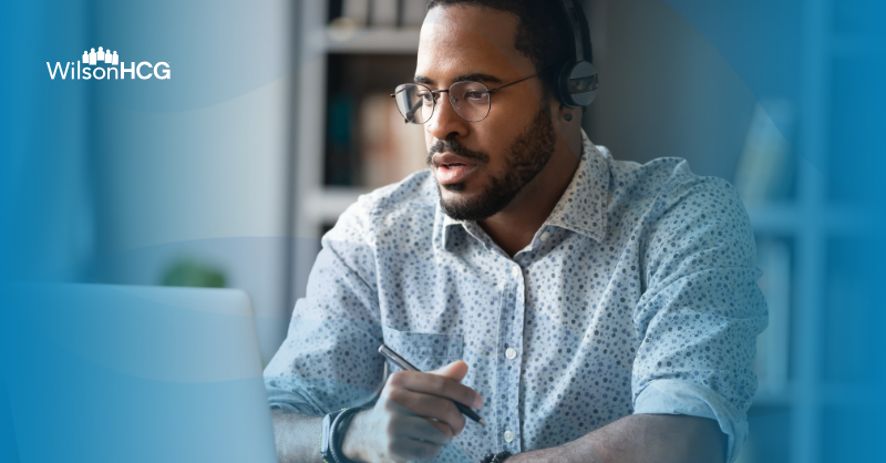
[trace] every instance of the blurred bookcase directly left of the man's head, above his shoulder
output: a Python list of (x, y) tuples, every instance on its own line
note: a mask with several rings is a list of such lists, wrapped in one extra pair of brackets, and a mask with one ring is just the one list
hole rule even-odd
[[(348, 206), (356, 203), (361, 194), (381, 186), (379, 182), (392, 183), (423, 167), (423, 156), (419, 156), (421, 158), (418, 162), (413, 160), (394, 173), (399, 178), (385, 181), (354, 175), (364, 171), (360, 168), (360, 163), (361, 156), (367, 155), (359, 145), (362, 136), (360, 126), (364, 124), (356, 123), (354, 119), (360, 117), (359, 112), (367, 104), (367, 96), (387, 95), (396, 84), (412, 79), (419, 50), (420, 21), (419, 24), (415, 22), (421, 8), (416, 9), (416, 6), (423, 6), (423, 0), (354, 2), (358, 9), (371, 9), (377, 3), (398, 4), (399, 20), (373, 25), (381, 21), (375, 20), (372, 11), (362, 11), (367, 16), (365, 21), (338, 21), (338, 16), (349, 14), (347, 1), (299, 2), (300, 11), (296, 17), (300, 30), (297, 43), (299, 65), (293, 92), (298, 133), (292, 144), (295, 210), (291, 229), (297, 237), (292, 249), (295, 284), (289, 295), (292, 303), (303, 296), (308, 275), (320, 249), (319, 238), (334, 225)], [(411, 25), (402, 25), (406, 22)], [(334, 120), (336, 110), (330, 107), (331, 101), (341, 95), (343, 100), (339, 100), (341, 104), (338, 107), (343, 106), (351, 112), (343, 117), (346, 124), (348, 119), (351, 120), (348, 128), (352, 133), (342, 135), (349, 141), (336, 151), (330, 137), (338, 135), (330, 134), (330, 124), (342, 120)], [(396, 113), (390, 99), (383, 103), (385, 107), (389, 106), (385, 110), (389, 114)], [(373, 104), (382, 102), (377, 97)], [(402, 131), (402, 127), (401, 120), (396, 128)], [(418, 126), (405, 127), (406, 131), (409, 128), (421, 132)], [(413, 146), (419, 143), (414, 133), (410, 136)], [(422, 138), (420, 154), (424, 153), (423, 143)], [(379, 161), (380, 164), (387, 163), (387, 167), (404, 164), (398, 160)]]

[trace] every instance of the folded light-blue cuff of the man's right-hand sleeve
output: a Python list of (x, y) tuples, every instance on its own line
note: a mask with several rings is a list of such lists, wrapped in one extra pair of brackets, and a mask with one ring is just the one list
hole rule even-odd
[(657, 380), (640, 391), (635, 414), (686, 414), (717, 420), (729, 436), (727, 463), (731, 463), (748, 439), (748, 418), (711, 389), (678, 380)]

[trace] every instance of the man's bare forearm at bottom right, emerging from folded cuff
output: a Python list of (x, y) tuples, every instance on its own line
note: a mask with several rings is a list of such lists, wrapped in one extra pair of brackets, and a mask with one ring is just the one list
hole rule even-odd
[(556, 447), (526, 452), (508, 463), (722, 462), (725, 435), (717, 421), (666, 414), (633, 414)]

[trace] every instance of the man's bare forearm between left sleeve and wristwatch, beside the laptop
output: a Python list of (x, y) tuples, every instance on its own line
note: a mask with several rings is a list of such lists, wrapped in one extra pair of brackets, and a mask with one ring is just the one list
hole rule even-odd
[(323, 459), (320, 457), (322, 416), (308, 416), (275, 409), (271, 411), (271, 418), (277, 459), (280, 463), (322, 463)]

